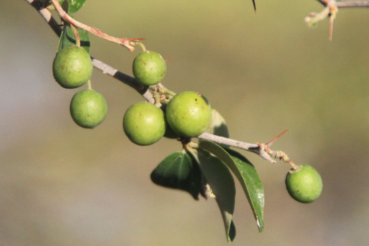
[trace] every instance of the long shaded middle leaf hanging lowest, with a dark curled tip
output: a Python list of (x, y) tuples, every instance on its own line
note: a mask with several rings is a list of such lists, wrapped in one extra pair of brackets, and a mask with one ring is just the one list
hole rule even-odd
[(212, 194), (222, 213), (227, 241), (232, 242), (236, 236), (236, 228), (232, 221), (236, 188), (231, 172), (217, 157), (201, 148), (189, 149), (190, 154), (199, 163)]

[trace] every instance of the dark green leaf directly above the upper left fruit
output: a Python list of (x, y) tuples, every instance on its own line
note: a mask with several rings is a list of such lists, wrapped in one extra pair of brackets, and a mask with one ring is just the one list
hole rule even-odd
[[(78, 34), (81, 42), (81, 47), (85, 48), (87, 52), (90, 52), (90, 36), (89, 33), (81, 28), (78, 28)], [(69, 25), (64, 25), (62, 34), (59, 38), (58, 51), (61, 49), (76, 45), (76, 37), (72, 28)]]

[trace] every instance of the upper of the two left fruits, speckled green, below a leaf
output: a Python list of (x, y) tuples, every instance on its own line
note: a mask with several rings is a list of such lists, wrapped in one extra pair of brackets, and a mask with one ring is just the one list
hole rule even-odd
[(56, 54), (52, 64), (56, 82), (63, 88), (72, 89), (84, 85), (92, 74), (92, 61), (82, 47), (69, 46)]

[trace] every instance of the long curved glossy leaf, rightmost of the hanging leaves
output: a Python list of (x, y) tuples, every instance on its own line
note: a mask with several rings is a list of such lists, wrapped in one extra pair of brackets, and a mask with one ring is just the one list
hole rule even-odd
[(220, 158), (236, 175), (254, 213), (259, 232), (264, 230), (264, 188), (254, 165), (234, 150), (227, 151), (212, 141), (201, 141), (199, 146)]

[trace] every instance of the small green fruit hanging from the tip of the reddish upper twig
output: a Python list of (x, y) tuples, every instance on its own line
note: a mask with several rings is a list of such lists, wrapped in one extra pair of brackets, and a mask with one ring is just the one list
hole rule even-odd
[(134, 59), (132, 71), (138, 82), (144, 85), (156, 85), (165, 76), (165, 60), (159, 53), (144, 51)]

